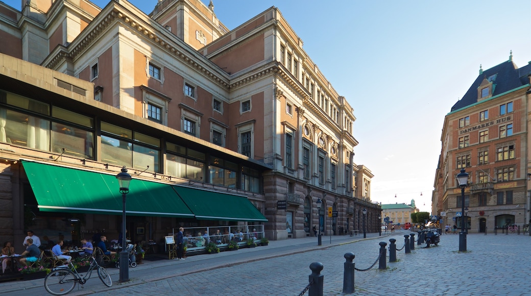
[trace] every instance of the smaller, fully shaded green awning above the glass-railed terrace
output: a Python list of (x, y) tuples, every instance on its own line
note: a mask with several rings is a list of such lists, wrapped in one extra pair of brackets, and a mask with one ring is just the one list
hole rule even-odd
[(244, 196), (173, 186), (197, 219), (227, 221), (267, 221)]

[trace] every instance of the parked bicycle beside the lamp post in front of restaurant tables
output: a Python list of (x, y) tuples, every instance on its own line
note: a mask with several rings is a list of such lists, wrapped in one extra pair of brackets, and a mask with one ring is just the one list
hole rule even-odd
[(101, 282), (108, 287), (112, 286), (113, 281), (107, 270), (98, 264), (94, 256), (91, 258), (89, 270), (85, 275), (78, 273), (72, 263), (52, 269), (52, 272), (50, 272), (44, 279), (44, 288), (46, 291), (54, 295), (68, 294), (74, 290), (75, 284), (79, 283), (83, 286), (92, 275), (93, 269), (97, 270)]

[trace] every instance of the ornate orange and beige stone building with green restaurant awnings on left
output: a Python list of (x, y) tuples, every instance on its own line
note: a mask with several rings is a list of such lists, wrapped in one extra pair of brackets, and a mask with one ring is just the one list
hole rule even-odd
[[(138, 240), (179, 225), (263, 224), (270, 239), (300, 238), (320, 220), (325, 233), (338, 233), (359, 229), (361, 208), (380, 212), (370, 201), (372, 172), (354, 162), (354, 110), (278, 8), (230, 31), (212, 3), (197, 0), (159, 1), (150, 15), (124, 0), (103, 9), (30, 0), (22, 11), (0, 3), (0, 14), (0, 38), (10, 41), (0, 43), (3, 217), (13, 219), (0, 238), (22, 239), (24, 217), (42, 231), (42, 221), (81, 217), (72, 238), (119, 229), (115, 208), (92, 205), (90, 190), (81, 194), (87, 204), (73, 204), (67, 196), (78, 193), (61, 191), (66, 181), (38, 170), (82, 184), (73, 176), (110, 182), (125, 166), (150, 205), (128, 214)], [(92, 186), (104, 186), (91, 174)], [(46, 182), (64, 195), (61, 204)], [(173, 191), (153, 187), (160, 184)], [(326, 215), (329, 207), (337, 216)]]

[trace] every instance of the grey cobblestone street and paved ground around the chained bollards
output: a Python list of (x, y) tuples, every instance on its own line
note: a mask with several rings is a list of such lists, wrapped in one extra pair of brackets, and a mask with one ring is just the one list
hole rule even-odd
[[(323, 236), (323, 245), (317, 246), (315, 237), (270, 241), (268, 247), (225, 251), (220, 254), (198, 255), (187, 260), (144, 261), (130, 268), (131, 282), (115, 283), (106, 288), (96, 280), (83, 294), (219, 294), (219, 295), (297, 295), (307, 285), (311, 273), (309, 265), (324, 265), (324, 294), (342, 294), (343, 255), (356, 255), (356, 268), (371, 266), (378, 257), (378, 243), (389, 238), (404, 246), (404, 234), (395, 232), (382, 237), (367, 233), (357, 237)], [(387, 264), (384, 271), (378, 264), (367, 272), (356, 272), (356, 294), (366, 295), (526, 295), (529, 290), (530, 255), (529, 236), (468, 234), (466, 253), (459, 253), (458, 235), (441, 237), (439, 246), (418, 248), (412, 254), (397, 252), (399, 262)], [(270, 254), (264, 254), (267, 251)], [(258, 252), (258, 253), (257, 253)], [(254, 254), (254, 256), (253, 256)], [(256, 255), (259, 255), (258, 258)], [(225, 257), (225, 258), (224, 258)], [(109, 268), (116, 282), (118, 269)], [(7, 282), (0, 291), (8, 295), (46, 293), (43, 280)], [(37, 289), (37, 288), (38, 289)]]

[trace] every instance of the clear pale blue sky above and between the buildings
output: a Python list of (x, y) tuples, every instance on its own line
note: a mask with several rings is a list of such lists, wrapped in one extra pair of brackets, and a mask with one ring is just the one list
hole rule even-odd
[[(4, 2), (20, 9), (20, 0)], [(108, 1), (94, 3), (104, 7)], [(149, 14), (157, 1), (131, 3)], [(354, 161), (375, 175), (372, 201), (409, 204), (414, 198), (426, 212), (444, 116), (474, 82), (479, 65), (503, 63), (510, 50), (518, 67), (531, 61), (529, 0), (213, 4), (229, 29), (278, 7), (306, 53), (354, 108)]]

